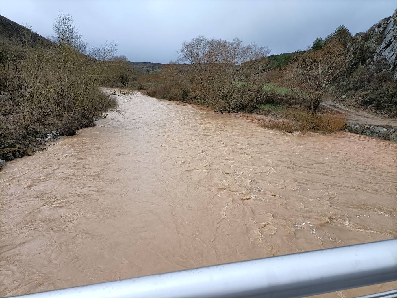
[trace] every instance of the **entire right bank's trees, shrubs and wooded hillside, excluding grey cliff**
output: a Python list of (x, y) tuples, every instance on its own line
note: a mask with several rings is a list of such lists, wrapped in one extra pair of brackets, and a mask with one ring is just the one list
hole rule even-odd
[(262, 127), (332, 132), (343, 129), (345, 120), (324, 110), (324, 99), (343, 100), (354, 93), (360, 98), (356, 105), (397, 113), (393, 66), (376, 52), (388, 23), (390, 18), (355, 36), (341, 25), (305, 50), (272, 56), (269, 48), (244, 46), (239, 39), (198, 36), (182, 44), (175, 62), (137, 81), (139, 89), (161, 99), (202, 104), (221, 113), (285, 118)]

